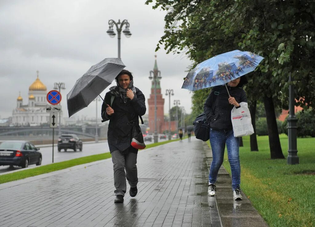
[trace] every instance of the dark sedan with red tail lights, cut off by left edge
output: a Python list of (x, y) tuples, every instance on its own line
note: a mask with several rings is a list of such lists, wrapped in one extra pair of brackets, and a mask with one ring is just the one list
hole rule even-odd
[(42, 153), (32, 143), (22, 140), (8, 140), (0, 144), (0, 166), (21, 166), (42, 164)]

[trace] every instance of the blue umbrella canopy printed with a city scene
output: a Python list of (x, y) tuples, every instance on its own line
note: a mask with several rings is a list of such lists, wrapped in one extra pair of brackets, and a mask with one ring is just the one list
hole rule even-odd
[(191, 70), (181, 88), (196, 91), (224, 85), (254, 71), (264, 58), (248, 51), (233, 50), (199, 63)]

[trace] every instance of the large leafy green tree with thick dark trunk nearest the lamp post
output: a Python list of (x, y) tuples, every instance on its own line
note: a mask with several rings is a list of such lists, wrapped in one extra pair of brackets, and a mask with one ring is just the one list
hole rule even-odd
[[(148, 0), (146, 4), (151, 2)], [(165, 16), (165, 35), (157, 49), (163, 43), (168, 53), (184, 52), (196, 64), (234, 49), (250, 50), (265, 58), (257, 71), (247, 75), (249, 83), (244, 89), (249, 105), (257, 100), (264, 103), (271, 158), (284, 158), (275, 106), (288, 106), (289, 74), (294, 79), (296, 98), (304, 98), (298, 104), (308, 108), (315, 103), (311, 102), (315, 95), (315, 3), (157, 0), (153, 8), (158, 7), (168, 13)], [(200, 111), (206, 98), (203, 93), (209, 94), (209, 91), (194, 93), (193, 111)]]

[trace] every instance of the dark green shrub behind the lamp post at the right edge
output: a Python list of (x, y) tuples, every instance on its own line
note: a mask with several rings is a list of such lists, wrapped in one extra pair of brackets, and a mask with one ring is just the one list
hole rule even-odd
[[(297, 121), (297, 136), (298, 137), (315, 137), (315, 114), (312, 110), (299, 111), (296, 113)], [(288, 135), (287, 118), (282, 124), (282, 129)], [(285, 130), (285, 131), (284, 131)]]

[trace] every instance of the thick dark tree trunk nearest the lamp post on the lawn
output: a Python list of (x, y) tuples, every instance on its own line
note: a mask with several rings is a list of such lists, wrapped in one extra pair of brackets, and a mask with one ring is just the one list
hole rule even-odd
[(264, 96), (271, 159), (284, 159), (272, 97)]

